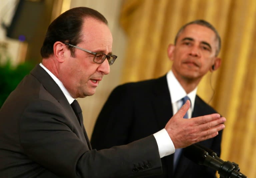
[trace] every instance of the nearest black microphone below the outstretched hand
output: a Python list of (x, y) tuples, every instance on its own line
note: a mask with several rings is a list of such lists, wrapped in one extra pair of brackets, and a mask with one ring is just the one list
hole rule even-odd
[(236, 171), (235, 166), (230, 161), (221, 162), (196, 145), (183, 148), (183, 153), (193, 162), (218, 171), (221, 178), (247, 178), (244, 174)]

